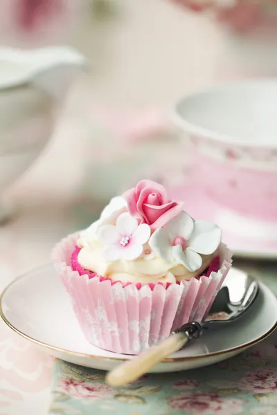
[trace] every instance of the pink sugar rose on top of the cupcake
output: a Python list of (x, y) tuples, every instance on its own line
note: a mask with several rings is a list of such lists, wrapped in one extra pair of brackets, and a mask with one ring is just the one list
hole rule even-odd
[(168, 199), (159, 183), (143, 180), (123, 194), (129, 213), (152, 230), (161, 228), (183, 210), (183, 205)]

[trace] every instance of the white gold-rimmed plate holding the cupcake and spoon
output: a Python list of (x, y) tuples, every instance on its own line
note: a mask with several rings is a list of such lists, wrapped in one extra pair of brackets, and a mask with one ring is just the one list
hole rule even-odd
[[(3, 292), (0, 306), (1, 317), (12, 330), (57, 358), (104, 370), (132, 358), (98, 349), (87, 342), (69, 296), (51, 265), (12, 282)], [(193, 369), (235, 356), (271, 334), (277, 325), (276, 316), (277, 299), (261, 284), (255, 304), (240, 320), (207, 331), (197, 342), (163, 360), (153, 371)]]

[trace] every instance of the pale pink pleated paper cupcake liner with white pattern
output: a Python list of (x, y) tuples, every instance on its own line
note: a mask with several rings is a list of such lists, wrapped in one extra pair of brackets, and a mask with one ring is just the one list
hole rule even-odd
[[(126, 284), (71, 268), (78, 234), (57, 243), (52, 259), (91, 344), (138, 354), (189, 321), (202, 321), (229, 269), (231, 252), (220, 246), (220, 269), (180, 284)], [(89, 275), (88, 275), (89, 274)]]

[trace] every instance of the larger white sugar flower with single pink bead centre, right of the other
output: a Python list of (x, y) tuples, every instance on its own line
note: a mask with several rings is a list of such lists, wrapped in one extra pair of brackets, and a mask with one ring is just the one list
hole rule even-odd
[(155, 230), (150, 238), (152, 250), (166, 261), (177, 261), (190, 272), (202, 266), (202, 255), (211, 255), (220, 246), (222, 232), (214, 223), (193, 221), (181, 212), (166, 223), (163, 228)]

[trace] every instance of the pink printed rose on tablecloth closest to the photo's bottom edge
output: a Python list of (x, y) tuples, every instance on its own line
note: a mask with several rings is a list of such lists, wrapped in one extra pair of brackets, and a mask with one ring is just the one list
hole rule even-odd
[(222, 398), (218, 394), (208, 392), (185, 392), (170, 398), (168, 405), (173, 409), (181, 409), (190, 414), (235, 415), (242, 412), (244, 401)]

